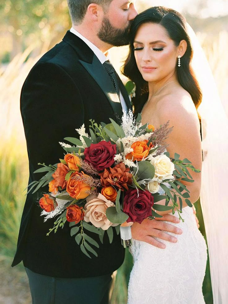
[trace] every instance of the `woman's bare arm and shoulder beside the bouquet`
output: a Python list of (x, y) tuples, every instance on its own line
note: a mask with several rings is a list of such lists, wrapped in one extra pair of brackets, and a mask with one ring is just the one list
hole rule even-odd
[[(202, 148), (200, 138), (200, 123), (195, 106), (190, 96), (181, 96), (180, 100), (169, 97), (164, 100), (159, 111), (160, 124), (169, 120), (169, 126), (173, 126), (173, 131), (167, 139), (167, 151), (170, 157), (174, 157), (174, 153), (180, 154), (180, 159), (187, 158), (192, 162), (196, 169), (202, 168)], [(191, 171), (191, 170), (190, 170)], [(190, 172), (194, 183), (181, 181), (190, 191), (189, 200), (195, 203), (200, 196), (201, 173)], [(178, 201), (179, 202), (179, 201)], [(159, 204), (165, 202), (160, 201)], [(182, 208), (187, 204), (183, 200)], [(169, 211), (158, 212), (159, 214), (167, 214)]]

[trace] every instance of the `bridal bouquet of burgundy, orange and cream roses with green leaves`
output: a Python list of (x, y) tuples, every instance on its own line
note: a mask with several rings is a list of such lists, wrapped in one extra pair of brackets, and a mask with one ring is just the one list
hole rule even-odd
[[(44, 221), (56, 217), (47, 235), (69, 222), (71, 236), (88, 257), (89, 252), (97, 256), (94, 247), (99, 244), (86, 230), (98, 234), (101, 242), (107, 231), (110, 243), (113, 229), (121, 231), (126, 247), (131, 245), (130, 227), (120, 227), (122, 223), (161, 217), (156, 211), (165, 210), (177, 210), (181, 218), (182, 199), (192, 206), (181, 180), (193, 182), (188, 168), (199, 171), (189, 160), (180, 160), (176, 153), (170, 159), (165, 152), (164, 141), (172, 131), (169, 122), (154, 130), (152, 125), (142, 126), (141, 115), (134, 119), (132, 112), (124, 113), (121, 125), (112, 119), (100, 125), (90, 121), (90, 135), (83, 125), (76, 129), (80, 139), (66, 137), (73, 146), (60, 143), (64, 159), (40, 164), (35, 173), (46, 174), (29, 185), (35, 192), (49, 184), (50, 193), (39, 200)], [(157, 204), (160, 200), (165, 204)]]

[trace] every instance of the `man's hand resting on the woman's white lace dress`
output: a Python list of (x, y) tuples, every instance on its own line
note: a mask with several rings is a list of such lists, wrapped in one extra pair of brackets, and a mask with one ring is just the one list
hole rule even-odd
[(171, 224), (165, 223), (167, 222), (173, 222), (173, 223), (179, 223), (180, 220), (171, 215), (171, 214), (165, 214), (162, 218), (156, 218), (153, 220), (150, 219), (144, 219), (141, 224), (135, 222), (131, 227), (131, 233), (132, 237), (135, 240), (147, 242), (155, 247), (164, 249), (166, 246), (165, 244), (161, 243), (160, 241), (156, 240), (156, 238), (159, 238), (161, 240), (166, 240), (172, 243), (176, 243), (178, 239), (174, 236), (169, 235), (166, 232), (172, 232), (175, 234), (182, 234), (182, 230), (176, 226), (173, 226)]

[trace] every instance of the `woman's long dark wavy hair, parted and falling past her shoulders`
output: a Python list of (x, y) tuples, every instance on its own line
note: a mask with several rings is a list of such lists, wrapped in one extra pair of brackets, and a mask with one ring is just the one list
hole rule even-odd
[(134, 112), (140, 112), (148, 99), (148, 82), (143, 79), (138, 70), (134, 57), (133, 46), (138, 28), (145, 23), (156, 23), (162, 25), (176, 46), (179, 45), (181, 40), (185, 40), (187, 42), (187, 49), (181, 58), (181, 67), (177, 69), (177, 76), (180, 85), (191, 95), (195, 107), (198, 108), (202, 100), (202, 93), (191, 68), (193, 51), (190, 38), (186, 31), (185, 18), (177, 11), (159, 6), (151, 7), (137, 15), (131, 24), (129, 32), (130, 49), (128, 57), (122, 68), (122, 72), (136, 85), (135, 98), (132, 99)]

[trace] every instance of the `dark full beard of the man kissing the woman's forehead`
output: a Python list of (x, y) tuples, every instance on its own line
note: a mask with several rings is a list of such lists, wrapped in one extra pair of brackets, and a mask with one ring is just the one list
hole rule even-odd
[(107, 18), (103, 18), (101, 29), (98, 32), (98, 37), (103, 41), (113, 46), (128, 45), (129, 40), (129, 29), (131, 22), (125, 29), (115, 28)]

